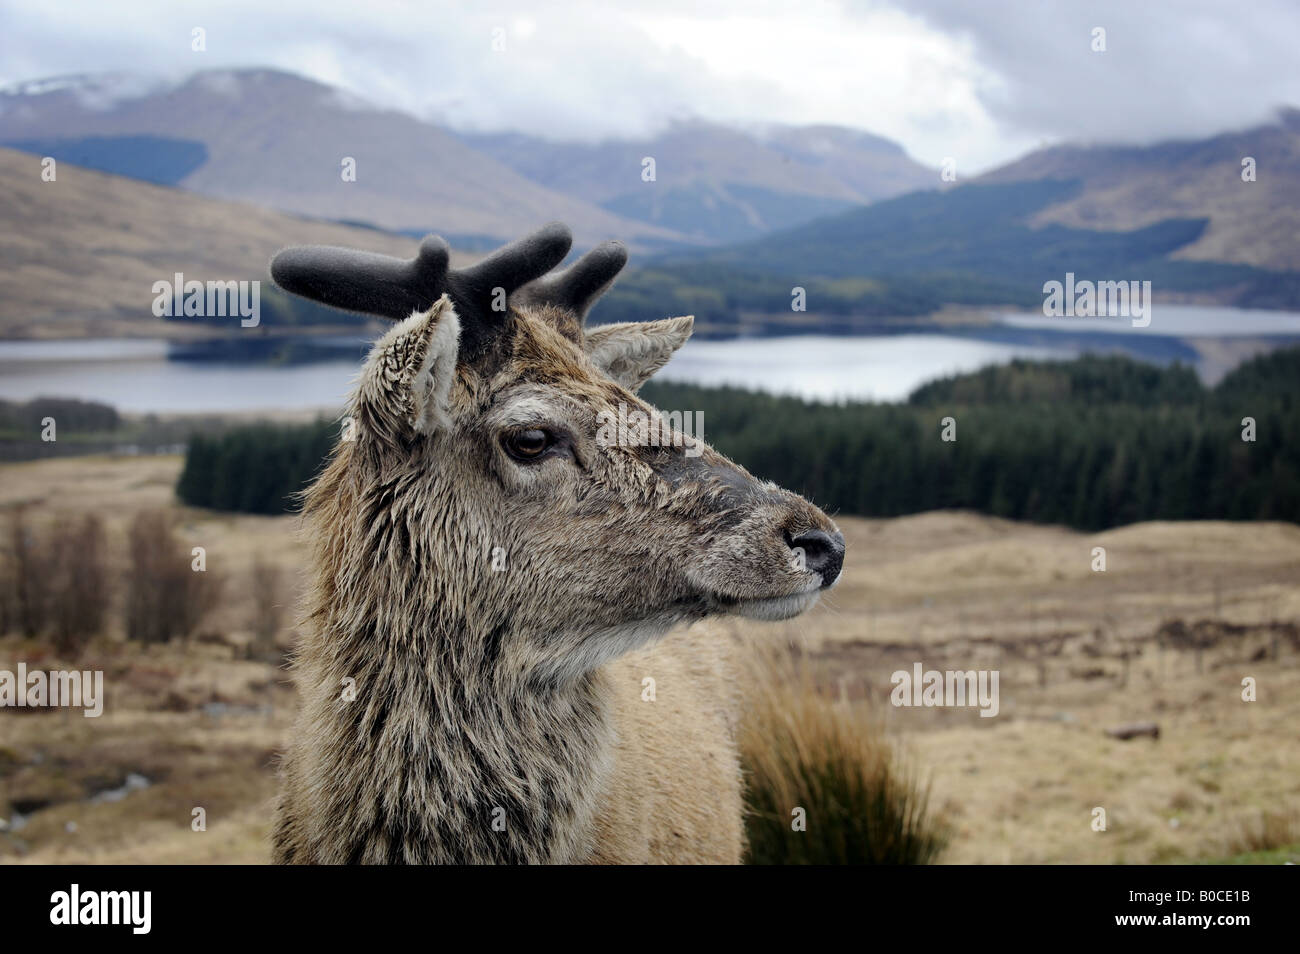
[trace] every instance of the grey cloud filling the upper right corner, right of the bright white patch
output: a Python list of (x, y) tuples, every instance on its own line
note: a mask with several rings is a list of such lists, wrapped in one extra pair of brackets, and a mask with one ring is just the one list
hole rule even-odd
[[(1300, 103), (1294, 0), (914, 0), (907, 9), (971, 43), (998, 79), (976, 96), (1011, 135), (1149, 143), (1242, 129)], [(1105, 52), (1092, 48), (1098, 27)]]

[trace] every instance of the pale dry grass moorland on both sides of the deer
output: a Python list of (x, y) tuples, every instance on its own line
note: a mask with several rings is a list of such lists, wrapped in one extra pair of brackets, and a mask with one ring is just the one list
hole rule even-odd
[[(105, 671), (101, 719), (0, 714), (0, 814), (16, 797), (48, 803), (18, 833), (23, 859), (268, 857), (273, 754), (295, 699), (278, 663), (248, 659), (256, 604), (272, 597), (246, 581), (259, 559), (281, 569), (276, 642), (286, 649), (298, 520), (177, 507), (178, 471), (174, 458), (0, 468), (0, 508), (30, 504), (36, 529), (100, 512), (110, 567), (126, 564), (131, 517), (170, 507), (186, 547), (204, 546), (208, 567), (238, 581), (187, 646), (129, 645), (120, 612), (109, 613), (108, 634), (81, 662)], [(878, 736), (867, 745), (850, 729), (866, 714), (893, 751), (907, 753), (950, 825), (941, 862), (1183, 862), (1290, 837), (1274, 816), (1300, 812), (1300, 645), (1287, 629), (1300, 621), (1300, 528), (1141, 524), (1080, 534), (971, 513), (840, 522), (845, 580), (824, 606), (788, 624), (728, 625), (755, 647), (798, 646), (818, 685), (812, 701), (770, 712), (812, 707), (800, 719), (828, 717), (826, 733), (870, 766)], [(1108, 550), (1106, 573), (1089, 569), (1093, 546)], [(1170, 620), (1195, 638), (1157, 639)], [(0, 668), (17, 659), (52, 656), (46, 643), (0, 639)], [(998, 716), (889, 706), (889, 675), (915, 662), (998, 669)], [(1247, 676), (1257, 702), (1242, 701)], [(854, 715), (836, 715), (837, 706)], [(1141, 720), (1160, 723), (1160, 740), (1105, 736)], [(120, 802), (88, 801), (127, 772), (153, 784)], [(205, 833), (190, 831), (195, 806), (208, 808)], [(1105, 832), (1092, 831), (1096, 807), (1106, 810)], [(810, 812), (810, 831), (814, 821)], [(0, 833), (8, 858), (18, 858), (14, 837)]]

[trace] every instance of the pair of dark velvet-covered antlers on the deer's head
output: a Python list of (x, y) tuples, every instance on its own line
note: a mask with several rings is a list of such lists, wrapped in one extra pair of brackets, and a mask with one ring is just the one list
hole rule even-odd
[(413, 259), (298, 246), (270, 260), (270, 276), (295, 295), (393, 321), (425, 311), (446, 294), (460, 316), (462, 352), (469, 356), (484, 350), (504, 325), (506, 312), (493, 305), (516, 292), (519, 304), (558, 304), (580, 321), (586, 317), (627, 263), (628, 252), (619, 242), (604, 242), (571, 268), (543, 278), (572, 244), (568, 227), (552, 222), (463, 269), (450, 268), (451, 250), (438, 235), (426, 237)]

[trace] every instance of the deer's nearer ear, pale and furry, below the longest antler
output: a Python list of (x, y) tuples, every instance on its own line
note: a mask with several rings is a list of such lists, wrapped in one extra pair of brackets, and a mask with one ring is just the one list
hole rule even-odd
[(358, 387), (370, 428), (391, 438), (403, 426), (421, 434), (448, 426), (459, 351), (460, 318), (446, 295), (380, 338)]

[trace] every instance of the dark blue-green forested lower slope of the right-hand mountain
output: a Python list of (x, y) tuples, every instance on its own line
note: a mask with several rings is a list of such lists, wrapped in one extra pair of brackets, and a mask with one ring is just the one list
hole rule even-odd
[[(1037, 308), (1067, 272), (1092, 281), (1150, 281), (1157, 302), (1300, 308), (1300, 274), (1188, 261), (1208, 220), (1166, 218), (1134, 230), (1031, 225), (1079, 195), (1078, 181), (975, 183), (913, 192), (753, 242), (675, 252), (630, 272), (597, 305), (601, 321), (649, 308), (696, 315), (706, 328), (862, 330), (944, 305)], [(790, 312), (806, 291), (807, 315)], [(755, 317), (757, 316), (757, 317)]]

